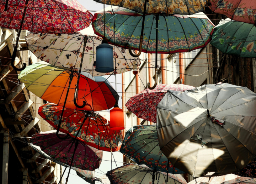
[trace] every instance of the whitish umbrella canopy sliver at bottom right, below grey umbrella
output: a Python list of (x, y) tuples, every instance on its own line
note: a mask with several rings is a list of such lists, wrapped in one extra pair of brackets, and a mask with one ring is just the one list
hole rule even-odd
[[(235, 174), (227, 174), (224, 176), (215, 176), (210, 177), (209, 175), (213, 173), (207, 174), (205, 177), (197, 178), (196, 180), (192, 180), (188, 184), (255, 184), (256, 180), (252, 178), (239, 177)], [(207, 177), (209, 176), (209, 177)]]

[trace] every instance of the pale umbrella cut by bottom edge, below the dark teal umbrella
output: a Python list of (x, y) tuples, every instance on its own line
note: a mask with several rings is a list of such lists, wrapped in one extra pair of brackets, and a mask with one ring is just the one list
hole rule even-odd
[(180, 174), (167, 174), (153, 171), (145, 165), (128, 163), (107, 172), (113, 184), (187, 184)]

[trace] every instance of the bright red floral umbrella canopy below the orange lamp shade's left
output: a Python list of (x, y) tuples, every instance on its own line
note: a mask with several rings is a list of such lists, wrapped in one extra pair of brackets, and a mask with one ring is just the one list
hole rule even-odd
[[(39, 107), (38, 114), (54, 128), (57, 128), (62, 110), (63, 107), (58, 105), (46, 104)], [(89, 117), (82, 124), (86, 114)], [(96, 149), (118, 151), (123, 142), (122, 132), (110, 130), (110, 126), (106, 124), (107, 121), (97, 113), (65, 108), (59, 131), (67, 133), (71, 137), (78, 134), (78, 140)], [(82, 128), (78, 132), (80, 126)]]

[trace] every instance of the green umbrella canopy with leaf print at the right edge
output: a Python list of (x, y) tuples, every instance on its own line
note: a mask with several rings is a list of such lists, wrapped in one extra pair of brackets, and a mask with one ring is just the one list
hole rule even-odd
[(226, 19), (214, 28), (211, 45), (226, 54), (256, 57), (255, 25)]

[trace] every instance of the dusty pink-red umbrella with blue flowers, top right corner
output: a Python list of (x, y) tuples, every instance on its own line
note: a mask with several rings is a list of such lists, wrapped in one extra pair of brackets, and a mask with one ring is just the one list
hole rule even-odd
[(232, 20), (256, 23), (256, 6), (253, 0), (211, 0), (208, 7)]

